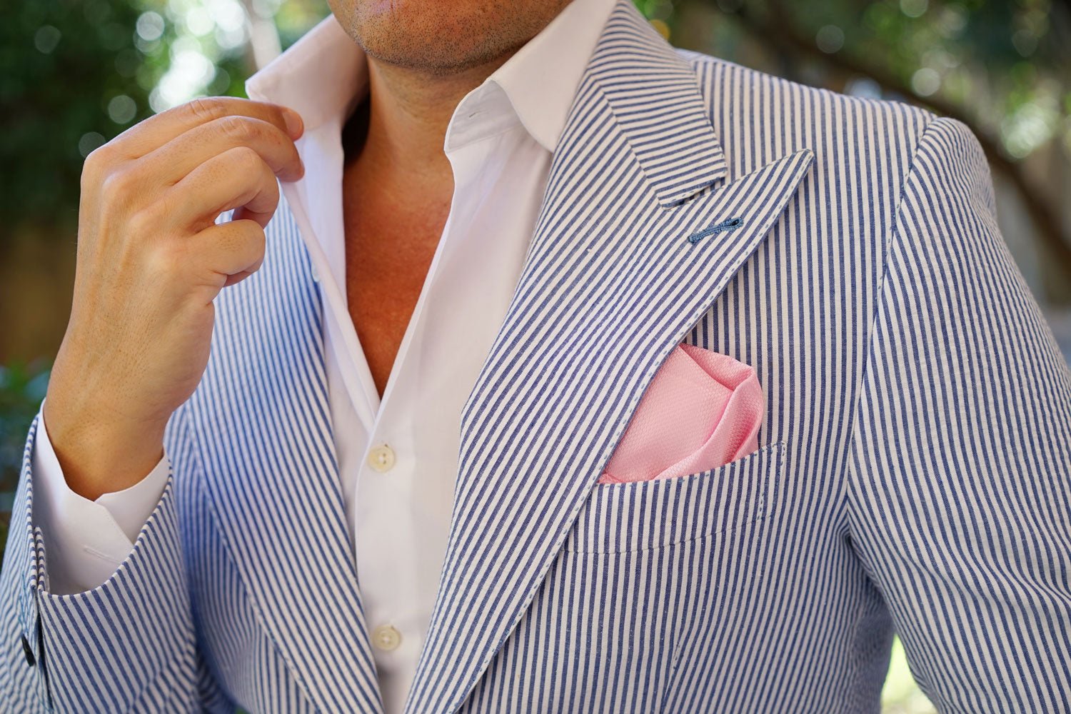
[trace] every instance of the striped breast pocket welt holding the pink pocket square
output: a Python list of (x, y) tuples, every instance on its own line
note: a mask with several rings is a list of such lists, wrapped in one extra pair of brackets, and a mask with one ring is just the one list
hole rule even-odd
[(784, 453), (784, 442), (776, 442), (725, 466), (685, 476), (599, 484), (564, 550), (602, 555), (652, 550), (761, 519)]

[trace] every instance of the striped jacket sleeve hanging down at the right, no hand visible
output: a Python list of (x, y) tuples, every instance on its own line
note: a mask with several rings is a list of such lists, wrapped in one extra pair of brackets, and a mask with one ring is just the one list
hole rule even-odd
[(850, 536), (941, 712), (1071, 711), (1071, 371), (975, 136), (905, 183), (848, 456)]

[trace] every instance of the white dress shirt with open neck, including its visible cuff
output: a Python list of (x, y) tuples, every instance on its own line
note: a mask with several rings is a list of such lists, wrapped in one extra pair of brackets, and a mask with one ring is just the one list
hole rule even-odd
[[(320, 286), (340, 477), (388, 712), (405, 703), (435, 604), (461, 410), (519, 278), (552, 154), (613, 4), (572, 0), (455, 108), (443, 145), (450, 215), (382, 399), (345, 297), (341, 134), (367, 94), (364, 54), (330, 16), (246, 85), (252, 98), (292, 107), (305, 122), (305, 176), (291, 208)], [(167, 455), (138, 484), (89, 501), (67, 488), (43, 419), (39, 434), (34, 517), (49, 586), (96, 587), (159, 502)]]

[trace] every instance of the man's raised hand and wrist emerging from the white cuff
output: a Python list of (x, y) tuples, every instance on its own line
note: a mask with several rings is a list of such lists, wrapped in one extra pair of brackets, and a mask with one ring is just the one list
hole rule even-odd
[(86, 158), (71, 321), (45, 400), (75, 492), (121, 490), (160, 460), (167, 420), (208, 364), (212, 300), (260, 267), (276, 176), (304, 171), (301, 133), (292, 110), (209, 97)]

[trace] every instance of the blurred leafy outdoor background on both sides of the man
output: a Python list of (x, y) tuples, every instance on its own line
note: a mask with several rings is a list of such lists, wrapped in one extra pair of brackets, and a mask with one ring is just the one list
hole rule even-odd
[[(636, 0), (674, 45), (965, 122), (1004, 236), (1071, 354), (1071, 0)], [(326, 0), (34, 0), (0, 9), (0, 536), (74, 279), (85, 156), (245, 78)], [(934, 711), (896, 644), (886, 712)]]

